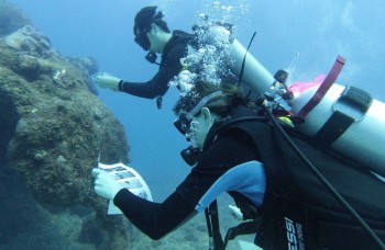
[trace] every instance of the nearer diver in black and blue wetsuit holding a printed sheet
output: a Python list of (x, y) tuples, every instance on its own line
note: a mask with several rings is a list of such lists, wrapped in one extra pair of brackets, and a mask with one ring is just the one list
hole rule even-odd
[[(183, 150), (191, 172), (176, 191), (163, 203), (148, 202), (94, 169), (95, 191), (113, 200), (152, 239), (205, 211), (210, 249), (226, 249), (229, 240), (244, 234), (255, 234), (254, 243), (263, 249), (384, 249), (384, 183), (365, 166), (319, 150), (280, 122), (307, 156), (304, 160), (262, 106), (253, 105), (237, 84), (197, 80), (174, 107), (175, 126), (193, 145)], [(349, 204), (329, 192), (307, 161), (315, 162)], [(229, 229), (224, 240), (216, 203), (222, 192), (233, 197), (245, 220)], [(367, 228), (354, 221), (351, 211)]]

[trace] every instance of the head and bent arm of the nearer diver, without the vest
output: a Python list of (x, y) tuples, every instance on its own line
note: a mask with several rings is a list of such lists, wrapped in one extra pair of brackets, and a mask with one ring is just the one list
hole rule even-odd
[(265, 192), (260, 155), (244, 129), (237, 125), (218, 129), (239, 115), (255, 115), (248, 105), (235, 86), (220, 88), (197, 81), (174, 109), (179, 115), (177, 128), (199, 149), (191, 172), (176, 191), (163, 203), (148, 202), (122, 189), (107, 172), (94, 169), (96, 192), (113, 200), (130, 221), (152, 239), (164, 237), (227, 191), (244, 218), (256, 218)]

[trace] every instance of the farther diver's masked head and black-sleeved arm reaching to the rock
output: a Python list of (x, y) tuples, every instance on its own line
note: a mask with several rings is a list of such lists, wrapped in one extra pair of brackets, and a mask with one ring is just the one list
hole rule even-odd
[[(101, 88), (122, 91), (135, 96), (155, 99), (162, 104), (162, 96), (168, 90), (169, 81), (177, 76), (183, 66), (180, 59), (194, 44), (195, 36), (183, 31), (170, 32), (157, 7), (145, 7), (138, 12), (134, 24), (135, 43), (148, 52), (146, 59), (155, 64), (156, 53), (162, 54), (157, 73), (146, 82), (124, 81), (108, 73), (96, 77)], [(160, 105), (158, 105), (160, 107)]]

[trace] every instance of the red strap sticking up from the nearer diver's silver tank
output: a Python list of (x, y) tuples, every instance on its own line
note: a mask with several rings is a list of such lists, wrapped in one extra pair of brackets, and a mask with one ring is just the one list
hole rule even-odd
[(322, 81), (321, 86), (316, 91), (315, 95), (310, 99), (309, 102), (305, 104), (305, 106), (298, 112), (297, 116), (305, 118), (305, 116), (322, 100), (324, 94), (328, 92), (330, 87), (334, 83), (338, 75), (340, 75), (343, 66), (345, 64), (345, 59), (341, 56), (338, 56), (334, 65), (332, 66), (330, 72)]

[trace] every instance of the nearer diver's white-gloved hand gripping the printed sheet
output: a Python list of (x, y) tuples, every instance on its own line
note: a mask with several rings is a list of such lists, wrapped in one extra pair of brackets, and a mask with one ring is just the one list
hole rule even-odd
[(102, 197), (113, 200), (117, 193), (123, 189), (113, 177), (101, 169), (92, 169), (92, 175), (95, 177), (95, 192)]

